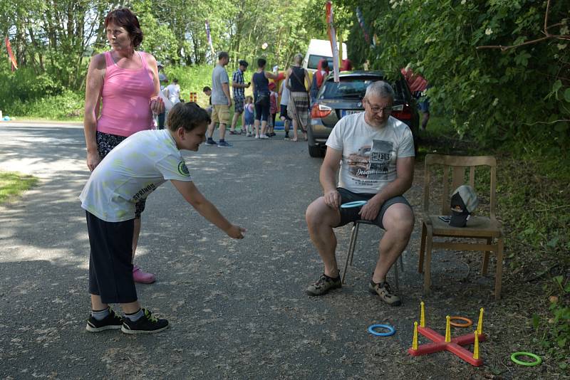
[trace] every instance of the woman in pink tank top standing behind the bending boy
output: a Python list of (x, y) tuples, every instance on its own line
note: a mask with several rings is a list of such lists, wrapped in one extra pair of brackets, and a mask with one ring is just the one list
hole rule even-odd
[[(93, 171), (111, 149), (131, 134), (153, 128), (152, 114), (164, 111), (155, 57), (135, 51), (142, 42), (137, 16), (129, 9), (115, 9), (105, 18), (111, 51), (91, 58), (86, 80), (83, 128), (87, 167)], [(100, 115), (99, 115), (100, 111)], [(145, 147), (140, 147), (145, 149)], [(136, 204), (133, 258), (140, 234), (140, 213), (145, 200)], [(133, 265), (138, 283), (153, 283), (155, 275)]]

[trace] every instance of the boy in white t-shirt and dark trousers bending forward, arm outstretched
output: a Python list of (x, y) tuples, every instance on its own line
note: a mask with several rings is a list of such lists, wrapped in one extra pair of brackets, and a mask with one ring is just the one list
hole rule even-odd
[[(245, 230), (229, 223), (198, 191), (181, 149), (197, 151), (206, 140), (211, 122), (195, 103), (178, 103), (168, 114), (167, 130), (133, 134), (93, 170), (81, 192), (89, 233), (89, 292), (92, 312), (87, 330), (121, 329), (126, 334), (159, 332), (168, 321), (141, 309), (131, 263), (135, 203), (170, 180), (200, 215), (231, 236), (241, 239)], [(120, 303), (125, 317), (110, 309)]]

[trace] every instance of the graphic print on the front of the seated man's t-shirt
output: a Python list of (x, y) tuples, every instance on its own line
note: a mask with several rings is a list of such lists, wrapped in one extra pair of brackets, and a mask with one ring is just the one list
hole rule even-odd
[(388, 180), (393, 146), (393, 142), (374, 139), (372, 147), (364, 145), (350, 154), (347, 160), (350, 175), (359, 179)]

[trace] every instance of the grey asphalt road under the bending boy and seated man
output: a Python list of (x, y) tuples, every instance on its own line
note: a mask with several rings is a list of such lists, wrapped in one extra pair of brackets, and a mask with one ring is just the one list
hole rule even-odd
[[(322, 272), (304, 221), (306, 206), (321, 194), (321, 159), (311, 159), (304, 142), (284, 141), (282, 133), (269, 140), (228, 136), (231, 149), (202, 145), (197, 153), (185, 153), (197, 187), (230, 221), (247, 228), (242, 241), (205, 221), (171, 184), (150, 195), (135, 261), (155, 273), (157, 283), (138, 285), (138, 294), (171, 328), (128, 336), (85, 329), (89, 250), (78, 194), (89, 172), (82, 127), (2, 122), (0, 169), (35, 174), (41, 183), (21, 200), (0, 206), (0, 377), (480, 376), (483, 369), (448, 352), (407, 354), (421, 298), (422, 277), (415, 270), (419, 228), (404, 255), (402, 307), (389, 307), (368, 293), (380, 238), (380, 230), (370, 226), (361, 228), (343, 289), (323, 297), (304, 294)], [(421, 181), (416, 178), (406, 195), (416, 211)], [(337, 232), (343, 265), (350, 226)], [(447, 289), (447, 284), (465, 280), (469, 271), (457, 260), (443, 256), (432, 264), (435, 297), (426, 301), (427, 313), (440, 332), (446, 314), (475, 320), (475, 302), (492, 302), (492, 277), (471, 285), (475, 302), (452, 302), (462, 285)], [(446, 270), (450, 265), (456, 268), (452, 273)], [(445, 280), (438, 277), (442, 273)], [(491, 331), (497, 318), (489, 309)], [(374, 337), (367, 328), (375, 323), (391, 324), (396, 333)], [(490, 347), (482, 344), (482, 357), (493, 354)]]

